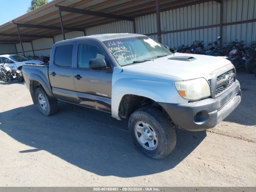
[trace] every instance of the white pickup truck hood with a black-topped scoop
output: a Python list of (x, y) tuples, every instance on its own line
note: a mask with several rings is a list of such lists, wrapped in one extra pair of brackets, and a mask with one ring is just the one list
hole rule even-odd
[(211, 72), (226, 64), (230, 64), (230, 61), (221, 57), (175, 53), (125, 67), (133, 70), (166, 74), (181, 78), (182, 80), (188, 80), (208, 76)]

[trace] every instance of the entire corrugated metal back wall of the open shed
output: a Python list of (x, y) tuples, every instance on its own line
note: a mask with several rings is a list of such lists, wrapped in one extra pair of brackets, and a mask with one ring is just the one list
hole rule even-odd
[[(256, 40), (256, 22), (225, 26), (226, 23), (256, 19), (256, 0), (223, 0), (223, 36), (222, 42), (238, 39), (244, 40), (250, 46)], [(215, 1), (177, 8), (160, 12), (162, 43), (177, 48), (181, 44), (190, 45), (194, 40), (203, 40), (207, 49), (208, 42), (213, 42), (220, 36), (220, 27), (172, 32), (173, 30), (186, 30), (195, 27), (204, 27), (220, 24), (220, 4)], [(138, 34), (149, 34), (150, 38), (157, 40), (156, 14), (149, 14), (135, 18), (135, 28)], [(103, 33), (133, 33), (133, 22), (118, 21), (91, 28), (86, 28), (86, 35)], [(67, 32), (66, 38), (84, 36), (83, 32)], [(54, 41), (62, 40), (62, 34), (54, 36)], [(52, 39), (39, 39), (33, 42), (34, 52), (37, 56), (49, 55), (53, 45)], [(16, 44), (21, 53), (20, 44)], [(24, 43), (25, 51), (32, 50), (30, 43)], [(16, 52), (13, 45), (1, 45), (0, 52)], [(26, 52), (31, 54), (32, 52)]]

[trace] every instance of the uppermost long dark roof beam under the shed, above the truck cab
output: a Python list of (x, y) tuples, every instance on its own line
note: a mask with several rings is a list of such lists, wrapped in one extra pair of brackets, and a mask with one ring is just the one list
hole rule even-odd
[(102, 12), (97, 12), (97, 11), (83, 10), (83, 9), (77, 9), (77, 8), (65, 7), (65, 6), (59, 6), (59, 5), (55, 5), (55, 6), (58, 7), (61, 11), (66, 11), (66, 12), (71, 12), (71, 13), (92, 15), (92, 16), (106, 17), (106, 18), (114, 18), (114, 19), (118, 19), (118, 20), (128, 20), (128, 21), (134, 20), (133, 17), (127, 17), (127, 16), (122, 16), (122, 15), (115, 15), (115, 14), (110, 14), (110, 13), (102, 13)]

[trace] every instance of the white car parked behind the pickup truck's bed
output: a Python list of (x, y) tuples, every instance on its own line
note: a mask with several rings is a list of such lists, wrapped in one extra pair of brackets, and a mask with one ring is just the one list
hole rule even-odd
[(18, 70), (22, 70), (22, 65), (24, 64), (32, 64), (32, 65), (43, 65), (44, 62), (40, 60), (29, 60), (28, 58), (21, 56), (21, 55), (15, 55), (15, 54), (6, 54), (6, 55), (0, 55), (0, 63), (5, 64), (11, 69), (18, 68)]

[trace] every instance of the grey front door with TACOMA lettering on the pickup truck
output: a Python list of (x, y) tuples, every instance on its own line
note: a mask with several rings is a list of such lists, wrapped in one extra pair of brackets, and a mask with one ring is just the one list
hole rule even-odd
[[(92, 70), (89, 61), (102, 58), (107, 69)], [(76, 67), (74, 67), (78, 104), (111, 112), (112, 67), (104, 50), (91, 42), (80, 42), (77, 46)]]

